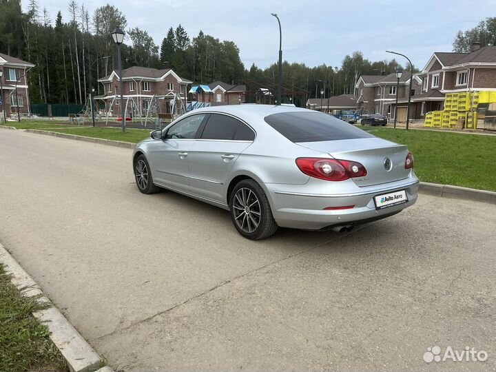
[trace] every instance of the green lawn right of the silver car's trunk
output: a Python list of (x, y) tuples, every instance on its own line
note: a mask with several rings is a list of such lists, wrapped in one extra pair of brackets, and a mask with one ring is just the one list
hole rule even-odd
[(390, 128), (370, 132), (407, 145), (422, 181), (496, 191), (496, 136)]

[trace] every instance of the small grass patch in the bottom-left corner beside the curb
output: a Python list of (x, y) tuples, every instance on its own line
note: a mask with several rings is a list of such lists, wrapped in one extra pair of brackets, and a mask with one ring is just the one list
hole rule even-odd
[(50, 331), (32, 311), (41, 309), (21, 296), (0, 264), (0, 371), (68, 371)]

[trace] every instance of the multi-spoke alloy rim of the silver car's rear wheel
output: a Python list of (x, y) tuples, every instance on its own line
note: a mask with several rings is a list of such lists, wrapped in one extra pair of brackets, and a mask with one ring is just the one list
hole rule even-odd
[(247, 187), (238, 189), (234, 195), (233, 212), (236, 225), (248, 234), (254, 232), (260, 225), (260, 201)]

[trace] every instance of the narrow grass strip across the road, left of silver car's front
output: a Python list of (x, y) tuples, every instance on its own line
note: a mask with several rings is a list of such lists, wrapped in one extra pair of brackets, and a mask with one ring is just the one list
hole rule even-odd
[(126, 132), (123, 133), (121, 128), (110, 128), (110, 127), (72, 127), (72, 128), (61, 128), (61, 129), (50, 129), (50, 132), (77, 134), (78, 136), (95, 137), (110, 139), (113, 141), (125, 141), (138, 143), (143, 139), (149, 137), (149, 133), (152, 130), (139, 130), (127, 128)]

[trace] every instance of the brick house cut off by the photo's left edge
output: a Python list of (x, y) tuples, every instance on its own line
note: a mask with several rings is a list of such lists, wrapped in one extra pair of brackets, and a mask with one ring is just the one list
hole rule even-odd
[[(6, 111), (6, 116), (17, 115), (17, 110), (21, 114), (30, 114), (29, 88), (26, 74), (34, 68), (32, 63), (0, 53), (1, 86), (3, 95), (0, 112)], [(17, 94), (16, 94), (17, 82)], [(19, 103), (17, 97), (19, 96)], [(3, 113), (1, 114), (3, 120)]]

